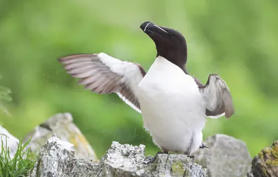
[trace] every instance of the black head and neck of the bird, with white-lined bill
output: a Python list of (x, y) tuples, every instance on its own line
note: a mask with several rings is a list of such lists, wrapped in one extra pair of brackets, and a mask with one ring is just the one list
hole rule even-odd
[(152, 22), (144, 22), (140, 28), (156, 44), (157, 56), (166, 58), (188, 74), (185, 68), (187, 61), (186, 39), (181, 33), (171, 28), (157, 26)]

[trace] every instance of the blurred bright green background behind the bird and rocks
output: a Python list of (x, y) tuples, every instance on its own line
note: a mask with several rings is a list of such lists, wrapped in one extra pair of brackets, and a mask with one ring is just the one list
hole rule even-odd
[(145, 21), (174, 28), (188, 42), (187, 69), (206, 83), (217, 73), (234, 98), (235, 115), (208, 119), (215, 133), (247, 143), (252, 156), (278, 140), (278, 1), (6, 1), (0, 0), (0, 124), (16, 137), (57, 112), (74, 122), (101, 157), (112, 141), (158, 149), (142, 117), (116, 94), (90, 94), (56, 58), (105, 52), (147, 70), (156, 49), (139, 28)]

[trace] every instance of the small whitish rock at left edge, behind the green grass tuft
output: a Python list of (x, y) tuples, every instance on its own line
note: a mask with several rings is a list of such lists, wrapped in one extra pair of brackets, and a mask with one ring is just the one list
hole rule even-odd
[(0, 126), (0, 153), (1, 153), (2, 142), (4, 148), (7, 147), (10, 149), (10, 158), (13, 159), (15, 153), (17, 152), (19, 140), (17, 140), (16, 137), (11, 135), (8, 132), (8, 130)]

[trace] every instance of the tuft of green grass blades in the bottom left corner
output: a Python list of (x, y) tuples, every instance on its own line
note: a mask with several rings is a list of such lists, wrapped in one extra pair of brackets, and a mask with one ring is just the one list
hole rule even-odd
[(13, 158), (10, 158), (10, 149), (7, 146), (7, 138), (6, 145), (4, 145), (3, 140), (1, 145), (1, 153), (0, 153), (0, 176), (6, 177), (19, 177), (19, 176), (27, 176), (28, 171), (33, 168), (35, 165), (36, 155), (26, 150), (26, 146), (31, 141), (31, 139), (22, 144), (22, 141), (19, 141), (17, 146), (17, 151)]

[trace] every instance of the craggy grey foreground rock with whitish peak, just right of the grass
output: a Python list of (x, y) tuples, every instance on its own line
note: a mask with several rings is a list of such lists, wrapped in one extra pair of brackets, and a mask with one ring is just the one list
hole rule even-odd
[(29, 176), (95, 176), (98, 167), (99, 162), (75, 158), (73, 144), (51, 137), (42, 147), (38, 161)]

